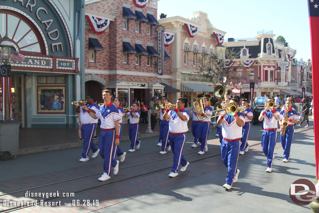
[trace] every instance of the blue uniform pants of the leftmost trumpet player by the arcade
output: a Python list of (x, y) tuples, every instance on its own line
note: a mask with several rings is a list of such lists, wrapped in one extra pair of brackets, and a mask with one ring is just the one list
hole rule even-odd
[(93, 143), (94, 131), (96, 129), (96, 124), (86, 124), (81, 126), (81, 132), (83, 135), (83, 152), (81, 156), (83, 158), (88, 157), (88, 153), (92, 148), (93, 153), (98, 150), (98, 148)]

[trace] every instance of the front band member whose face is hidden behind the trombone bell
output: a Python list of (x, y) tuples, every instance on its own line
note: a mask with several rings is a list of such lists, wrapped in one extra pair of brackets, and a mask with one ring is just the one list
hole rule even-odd
[[(239, 106), (239, 100), (232, 98), (230, 103)], [(226, 189), (231, 189), (233, 183), (237, 182), (239, 169), (237, 169), (238, 153), (240, 140), (242, 138), (242, 126), (245, 124), (244, 113), (237, 112), (234, 116), (226, 114), (220, 115), (217, 124), (223, 124), (223, 140), (220, 145), (223, 163), (228, 168), (226, 183), (223, 185)]]

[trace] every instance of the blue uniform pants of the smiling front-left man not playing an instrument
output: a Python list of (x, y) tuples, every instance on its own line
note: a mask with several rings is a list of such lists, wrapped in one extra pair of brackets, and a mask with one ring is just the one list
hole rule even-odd
[(115, 149), (115, 130), (101, 131), (99, 138), (100, 156), (104, 159), (103, 170), (111, 176), (111, 166), (115, 167), (117, 162), (112, 154)]

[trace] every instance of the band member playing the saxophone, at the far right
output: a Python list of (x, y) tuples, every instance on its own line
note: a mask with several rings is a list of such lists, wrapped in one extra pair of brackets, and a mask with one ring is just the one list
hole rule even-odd
[[(285, 134), (280, 135), (281, 145), (282, 145), (282, 148), (284, 149), (283, 162), (285, 163), (289, 161), (289, 157), (290, 157), (290, 146), (291, 146), (291, 141), (293, 140), (293, 131), (294, 131), (293, 125), (297, 123), (297, 120), (299, 119), (298, 113), (296, 112), (296, 110), (292, 109), (292, 105), (293, 105), (292, 101), (287, 99), (286, 109), (280, 111), (280, 118), (279, 118), (280, 127), (282, 126), (283, 121), (286, 121), (288, 123), (288, 126), (286, 126)], [(287, 118), (286, 118), (286, 114), (287, 114)]]

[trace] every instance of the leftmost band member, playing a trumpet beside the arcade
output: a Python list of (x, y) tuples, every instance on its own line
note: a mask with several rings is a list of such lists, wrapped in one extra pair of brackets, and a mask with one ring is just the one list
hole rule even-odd
[[(92, 157), (96, 157), (99, 154), (100, 149), (98, 149), (93, 142), (94, 131), (96, 130), (96, 126), (98, 123), (98, 119), (92, 118), (89, 113), (86, 113), (86, 110), (83, 108), (86, 106), (88, 109), (92, 111), (92, 113), (99, 112), (99, 106), (93, 101), (93, 94), (88, 94), (86, 96), (86, 103), (79, 102), (79, 106), (75, 109), (77, 113), (80, 113), (80, 121), (81, 121), (81, 132), (83, 134), (83, 152), (82, 158), (80, 162), (85, 162), (89, 160), (89, 156), (87, 155), (92, 148), (93, 155)], [(82, 106), (82, 109), (80, 109)]]

